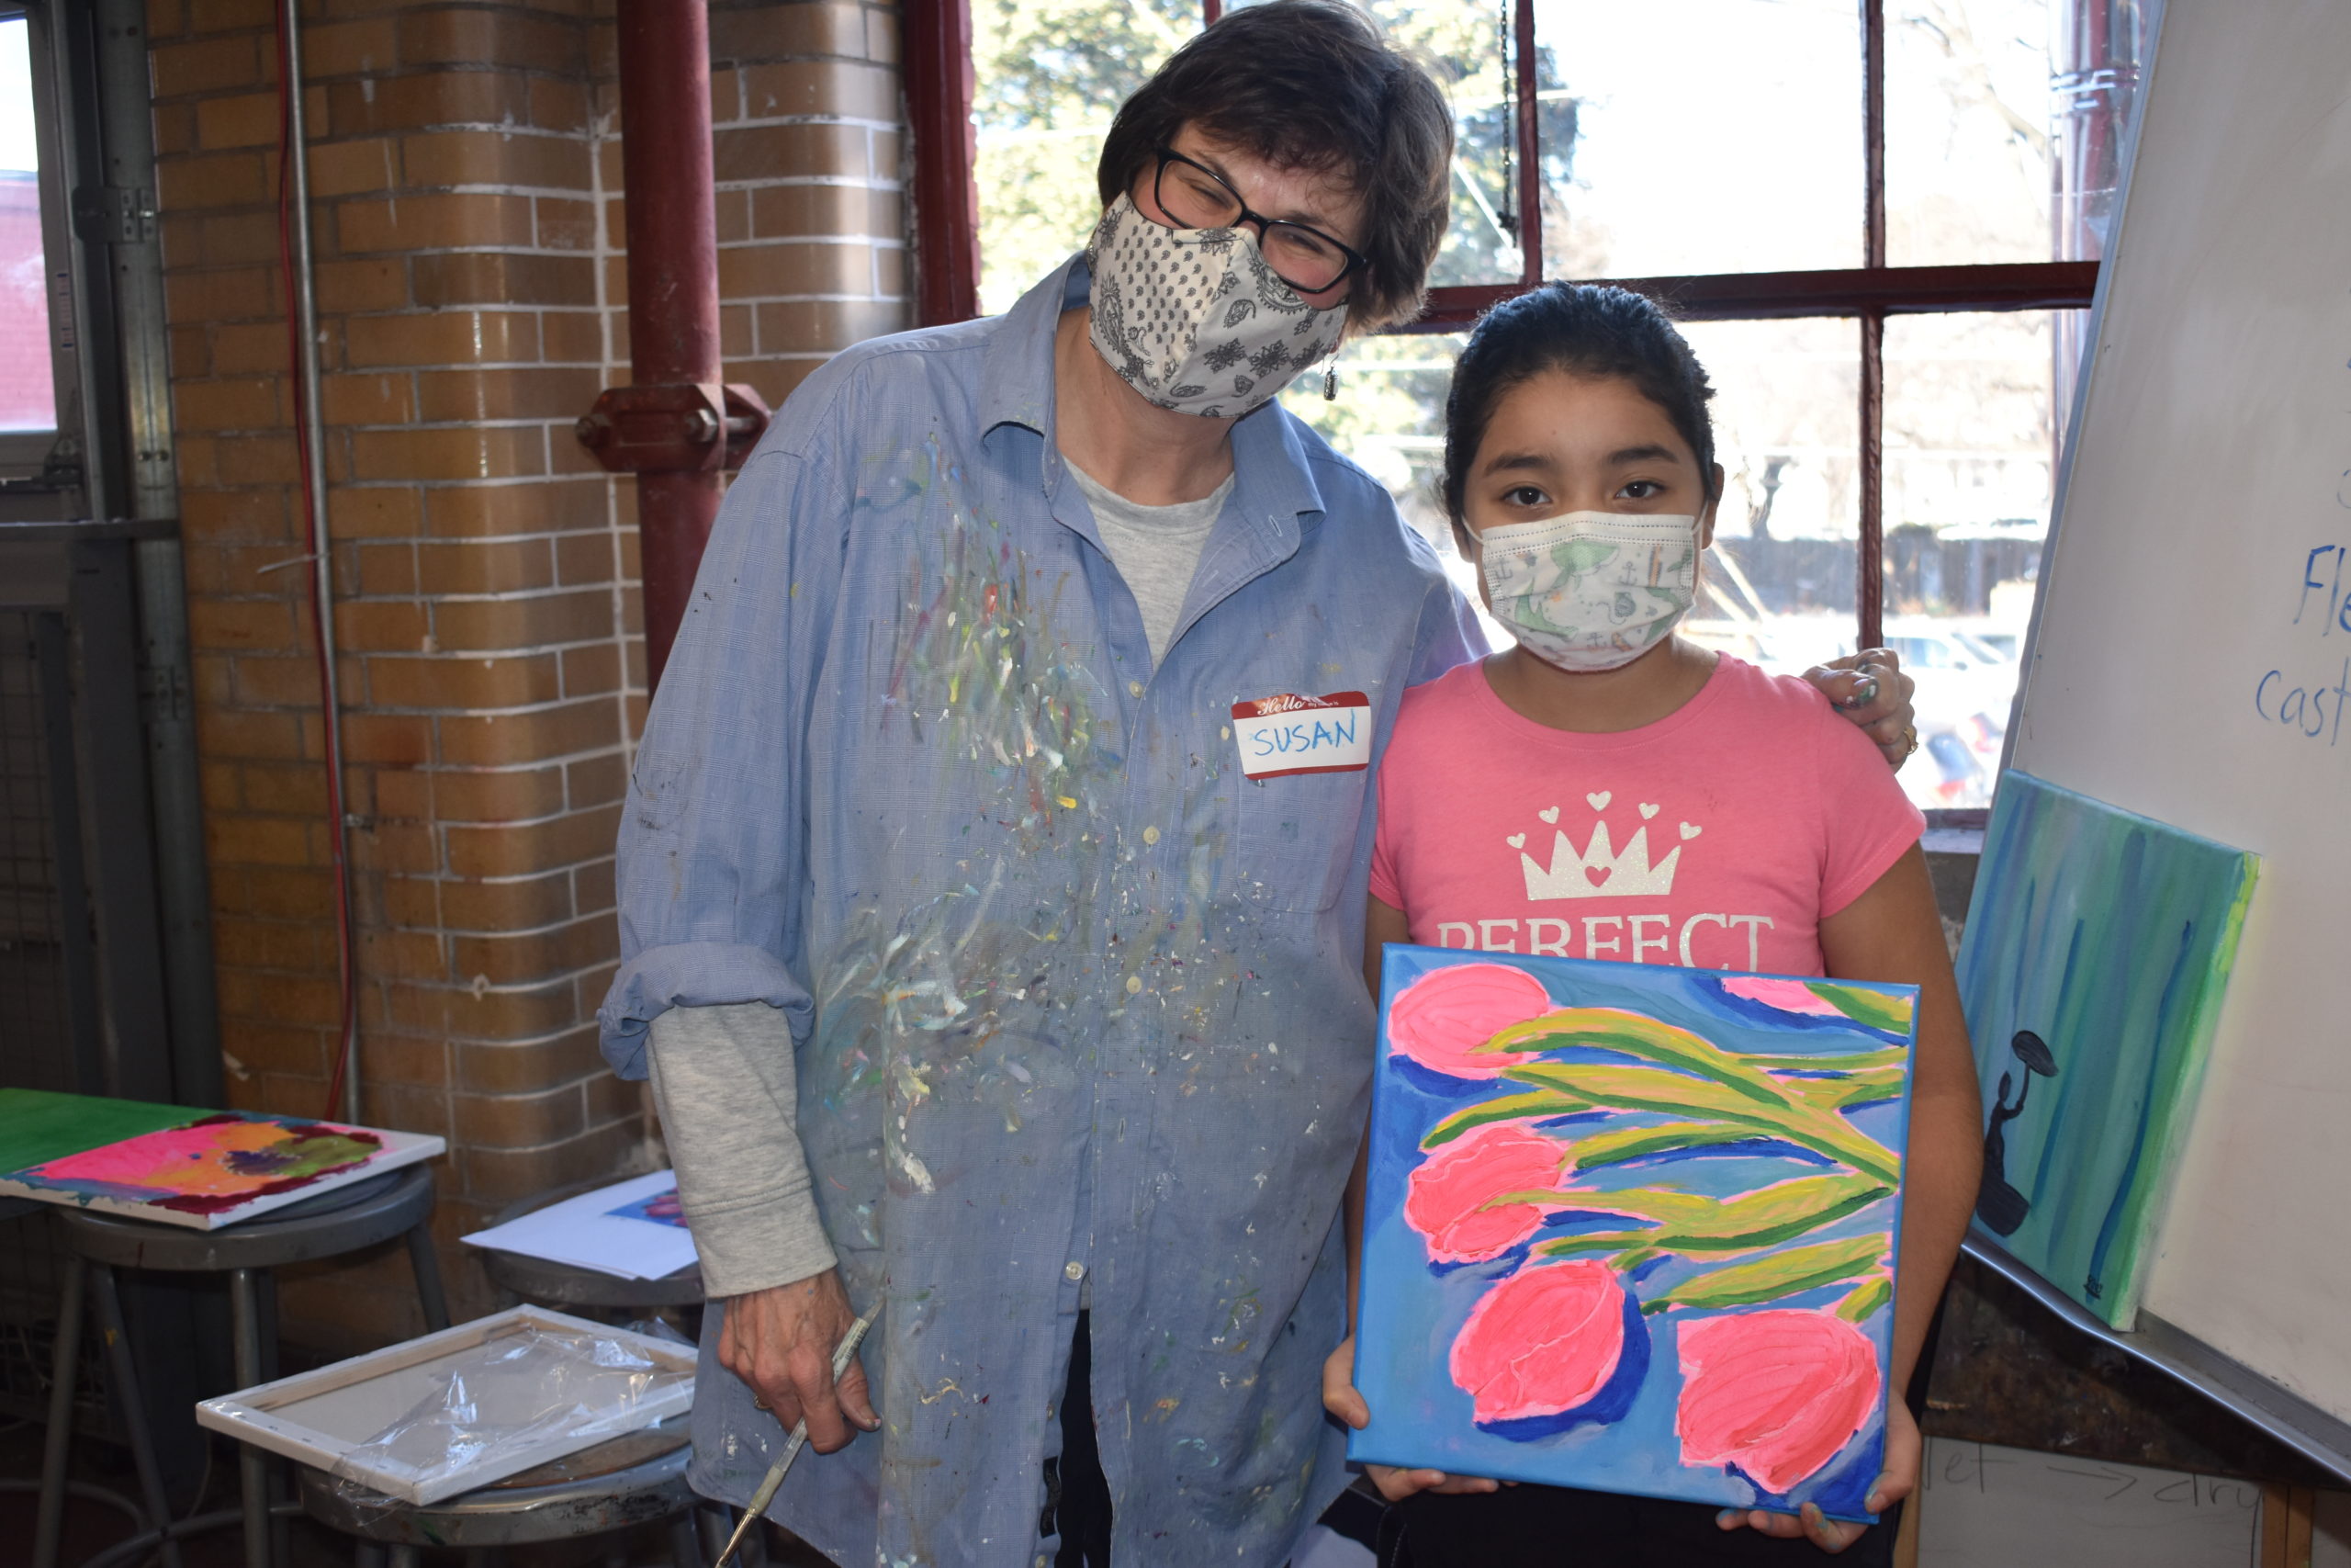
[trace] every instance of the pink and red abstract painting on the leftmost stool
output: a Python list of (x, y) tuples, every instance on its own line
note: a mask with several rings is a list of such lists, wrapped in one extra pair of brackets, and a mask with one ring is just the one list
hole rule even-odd
[[(120, 1103), (9, 1091), (0, 1110), (24, 1110), (56, 1135), (75, 1124), (110, 1128)], [(158, 1107), (134, 1107), (153, 1112)], [(0, 1175), (0, 1194), (214, 1229), (442, 1152), (442, 1140), (301, 1117), (176, 1112), (172, 1126), (71, 1152), (52, 1152)]]

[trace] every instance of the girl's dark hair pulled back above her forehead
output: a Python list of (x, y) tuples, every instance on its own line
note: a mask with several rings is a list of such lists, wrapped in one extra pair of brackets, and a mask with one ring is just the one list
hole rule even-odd
[(1714, 386), (1665, 308), (1646, 294), (1589, 282), (1547, 282), (1479, 317), (1446, 393), (1446, 515), (1462, 522), (1469, 463), (1493, 411), (1545, 371), (1620, 378), (1665, 409), (1697, 456), (1697, 482), (1714, 501)]

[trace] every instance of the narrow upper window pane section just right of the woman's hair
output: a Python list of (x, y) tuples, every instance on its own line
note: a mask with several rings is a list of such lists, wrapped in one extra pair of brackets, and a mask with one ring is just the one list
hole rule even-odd
[(1368, 9), (1389, 40), (1434, 66), (1453, 106), (1453, 214), (1429, 284), (1516, 282), (1523, 261), (1516, 146), (1502, 101), (1505, 7), (1500, 0), (1375, 0)]

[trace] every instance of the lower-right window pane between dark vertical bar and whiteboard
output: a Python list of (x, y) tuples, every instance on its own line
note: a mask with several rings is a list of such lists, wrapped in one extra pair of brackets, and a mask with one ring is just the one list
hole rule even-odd
[(1921, 806), (1989, 806), (2055, 480), (2057, 313), (1886, 322), (1886, 644), (1918, 682)]

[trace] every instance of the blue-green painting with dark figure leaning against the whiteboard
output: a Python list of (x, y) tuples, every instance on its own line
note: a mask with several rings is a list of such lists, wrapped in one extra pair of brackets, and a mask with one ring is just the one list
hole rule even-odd
[(1958, 994), (1984, 1084), (1975, 1218), (2130, 1328), (2259, 858), (2010, 771)]

